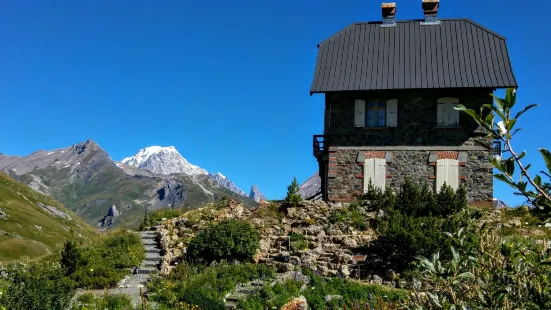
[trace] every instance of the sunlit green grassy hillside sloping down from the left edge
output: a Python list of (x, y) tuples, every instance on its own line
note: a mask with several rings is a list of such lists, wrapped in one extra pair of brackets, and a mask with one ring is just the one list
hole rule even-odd
[[(95, 229), (52, 198), (0, 172), (0, 263), (55, 252), (71, 237)], [(70, 218), (70, 219), (69, 219)]]

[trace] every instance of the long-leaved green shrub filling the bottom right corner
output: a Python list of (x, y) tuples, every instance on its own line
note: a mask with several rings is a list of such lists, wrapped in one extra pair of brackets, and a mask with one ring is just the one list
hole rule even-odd
[(551, 266), (547, 246), (504, 240), (492, 228), (477, 231), (479, 242), (466, 241), (464, 230), (449, 234), (453, 257), (420, 257), (421, 278), (408, 309), (551, 309)]

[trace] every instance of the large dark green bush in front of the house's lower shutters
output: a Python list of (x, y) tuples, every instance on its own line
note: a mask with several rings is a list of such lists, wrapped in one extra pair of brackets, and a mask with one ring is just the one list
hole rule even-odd
[[(407, 269), (419, 255), (440, 252), (444, 258), (450, 258), (450, 243), (444, 232), (467, 226), (479, 216), (467, 209), (463, 187), (454, 191), (444, 185), (434, 194), (427, 185), (419, 187), (406, 180), (395, 198), (375, 193), (371, 199), (371, 205), (384, 206), (385, 211), (385, 216), (376, 223), (380, 233), (378, 254), (389, 265), (383, 267), (400, 271)], [(472, 233), (469, 236), (469, 242), (476, 241)]]

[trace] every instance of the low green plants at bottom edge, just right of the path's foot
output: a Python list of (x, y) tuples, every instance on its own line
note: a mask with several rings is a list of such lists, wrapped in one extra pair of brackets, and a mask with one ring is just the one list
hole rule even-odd
[[(180, 309), (180, 304), (197, 305), (200, 309), (224, 309), (223, 298), (238, 283), (271, 279), (272, 267), (253, 264), (204, 265), (178, 264), (167, 277), (150, 282), (151, 299), (159, 309)], [(164, 308), (163, 308), (164, 307)]]

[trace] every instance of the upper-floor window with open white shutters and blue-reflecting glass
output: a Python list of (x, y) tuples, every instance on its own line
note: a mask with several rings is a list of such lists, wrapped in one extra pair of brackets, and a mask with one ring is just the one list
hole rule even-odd
[(355, 100), (355, 127), (396, 127), (398, 100)]

